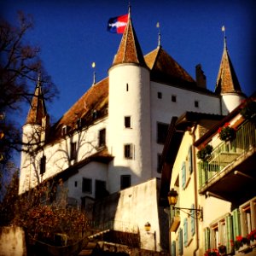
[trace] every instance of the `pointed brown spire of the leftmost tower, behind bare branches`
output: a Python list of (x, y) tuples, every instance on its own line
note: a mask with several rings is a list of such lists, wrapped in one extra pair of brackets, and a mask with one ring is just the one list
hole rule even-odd
[(42, 118), (47, 115), (42, 92), (41, 73), (38, 73), (38, 83), (32, 97), (31, 108), (26, 117), (26, 125), (42, 125)]

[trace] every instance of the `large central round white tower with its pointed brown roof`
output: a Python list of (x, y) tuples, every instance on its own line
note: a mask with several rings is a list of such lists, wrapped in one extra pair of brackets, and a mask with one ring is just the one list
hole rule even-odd
[(108, 182), (114, 192), (151, 177), (150, 76), (130, 14), (108, 75), (108, 152), (114, 156)]

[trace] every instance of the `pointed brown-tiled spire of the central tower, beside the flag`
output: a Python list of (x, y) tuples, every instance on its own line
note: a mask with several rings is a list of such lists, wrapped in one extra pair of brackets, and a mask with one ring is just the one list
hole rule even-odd
[(129, 5), (128, 22), (119, 44), (117, 54), (114, 56), (113, 65), (121, 63), (136, 63), (146, 66), (143, 52), (137, 40), (136, 32), (131, 22), (131, 6)]

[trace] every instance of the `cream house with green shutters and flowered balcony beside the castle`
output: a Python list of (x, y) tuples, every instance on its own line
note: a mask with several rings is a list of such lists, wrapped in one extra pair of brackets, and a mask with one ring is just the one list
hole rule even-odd
[(247, 99), (220, 120), (189, 112), (173, 119), (160, 187), (163, 207), (177, 192), (172, 255), (256, 253), (255, 104)]

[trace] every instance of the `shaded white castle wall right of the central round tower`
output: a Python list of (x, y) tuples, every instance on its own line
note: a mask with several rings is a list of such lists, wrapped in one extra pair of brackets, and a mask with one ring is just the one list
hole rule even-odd
[[(186, 111), (220, 114), (220, 100), (218, 96), (184, 90), (167, 84), (151, 82), (151, 140), (152, 140), (152, 177), (160, 177), (157, 173), (157, 154), (161, 154), (163, 145), (157, 142), (157, 122), (170, 124), (172, 116), (179, 117)], [(162, 93), (162, 98), (157, 93)], [(172, 102), (172, 95), (177, 102)], [(195, 108), (195, 101), (199, 107)]]

